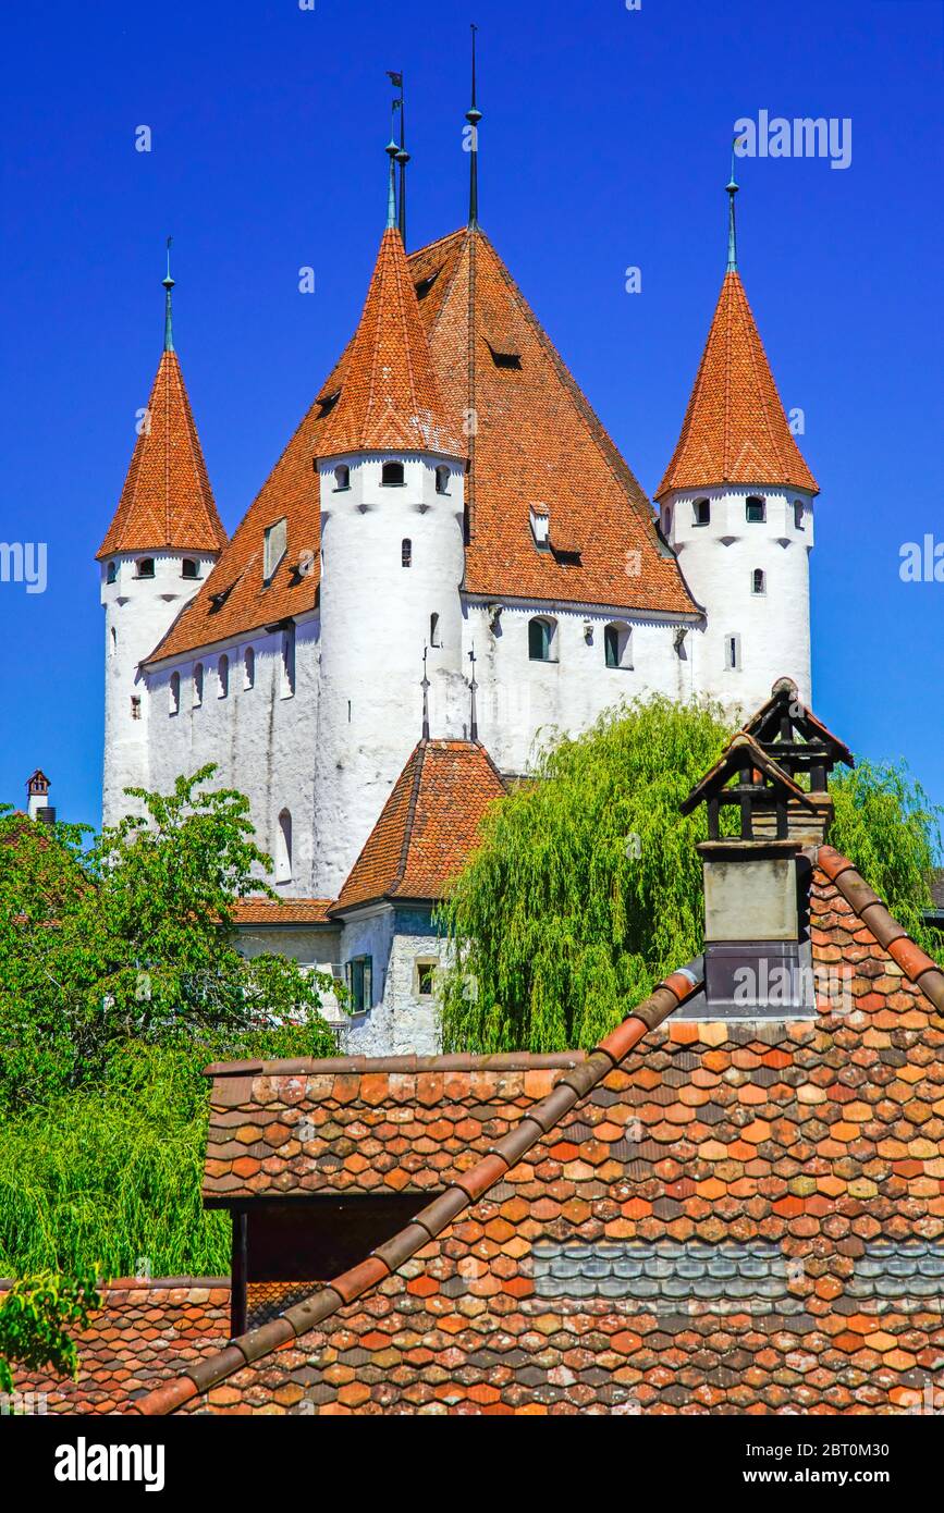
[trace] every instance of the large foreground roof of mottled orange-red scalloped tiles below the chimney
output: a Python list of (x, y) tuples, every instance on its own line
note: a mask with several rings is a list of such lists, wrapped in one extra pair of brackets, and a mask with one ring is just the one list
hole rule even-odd
[[(658, 990), (470, 1170), (449, 1150), (440, 1195), (404, 1232), (135, 1409), (867, 1413), (914, 1401), (944, 1344), (921, 1280), (944, 1235), (944, 973), (844, 858), (818, 855), (814, 961), (849, 970), (852, 1012), (820, 993), (814, 1021), (660, 1027), (693, 988)], [(337, 1074), (330, 1101), (401, 1108), (399, 1074), (374, 1086), (369, 1064)], [(419, 1067), (410, 1095), (413, 1117), (439, 1098)], [(431, 1123), (422, 1148), (457, 1135), (452, 1120), (440, 1133)], [(637, 1265), (655, 1245), (670, 1269), (672, 1256), (705, 1253), (728, 1292), (660, 1297), (658, 1272)], [(539, 1248), (563, 1251), (549, 1289)], [(778, 1301), (752, 1282), (758, 1265)]]

